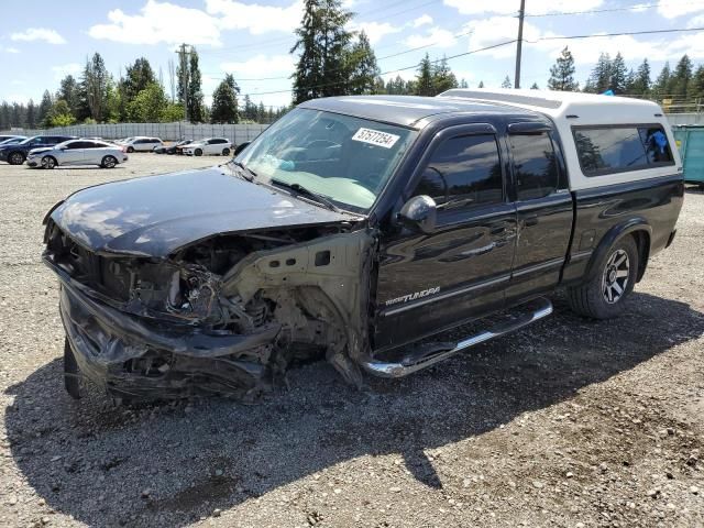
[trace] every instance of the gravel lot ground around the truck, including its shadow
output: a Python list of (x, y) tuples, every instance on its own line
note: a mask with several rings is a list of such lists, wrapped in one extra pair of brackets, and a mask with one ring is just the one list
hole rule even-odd
[(44, 213), (88, 185), (218, 162), (0, 166), (1, 526), (704, 526), (696, 191), (618, 320), (558, 296), (551, 318), (364, 393), (317, 363), (255, 405), (70, 400)]

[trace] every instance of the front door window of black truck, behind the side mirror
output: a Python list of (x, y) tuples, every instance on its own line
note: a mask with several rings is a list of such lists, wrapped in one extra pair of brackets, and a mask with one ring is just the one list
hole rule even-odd
[(496, 138), (451, 138), (432, 154), (414, 195), (428, 195), (439, 209), (501, 204), (504, 197)]

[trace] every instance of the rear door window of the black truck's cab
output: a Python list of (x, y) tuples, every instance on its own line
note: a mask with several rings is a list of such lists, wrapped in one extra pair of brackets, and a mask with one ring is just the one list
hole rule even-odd
[(558, 190), (558, 163), (547, 132), (509, 135), (519, 200), (543, 198)]

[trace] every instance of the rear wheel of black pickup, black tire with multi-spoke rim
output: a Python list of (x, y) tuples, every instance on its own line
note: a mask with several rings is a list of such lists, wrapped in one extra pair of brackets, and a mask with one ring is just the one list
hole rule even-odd
[(593, 319), (619, 316), (634, 290), (639, 264), (634, 238), (626, 235), (618, 240), (598, 262), (597, 271), (588, 282), (568, 287), (572, 311)]

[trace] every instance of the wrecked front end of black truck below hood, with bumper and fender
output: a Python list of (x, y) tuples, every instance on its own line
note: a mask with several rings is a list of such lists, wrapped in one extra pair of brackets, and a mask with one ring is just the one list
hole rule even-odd
[(216, 235), (167, 257), (92, 251), (47, 221), (81, 376), (124, 400), (253, 398), (326, 358), (361, 385), (374, 235), (349, 223)]

